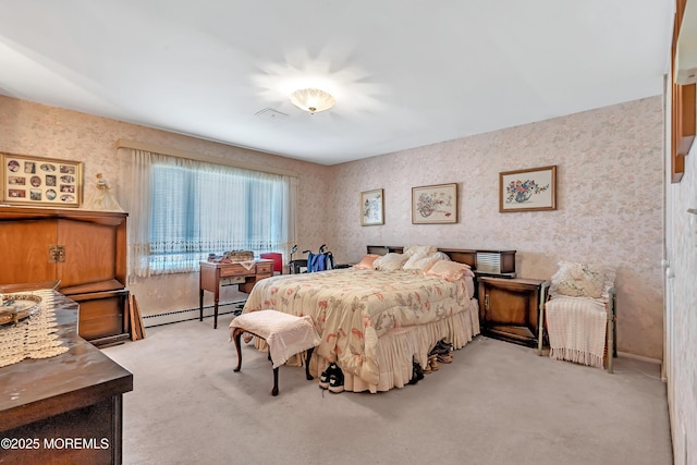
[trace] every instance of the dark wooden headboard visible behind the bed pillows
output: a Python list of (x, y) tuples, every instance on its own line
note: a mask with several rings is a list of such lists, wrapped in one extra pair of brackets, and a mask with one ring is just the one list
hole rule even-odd
[[(404, 253), (403, 246), (368, 245), (368, 254), (386, 255), (388, 253)], [(515, 250), (481, 250), (467, 248), (439, 248), (453, 261), (466, 264), (477, 271), (477, 274), (515, 278)]]

